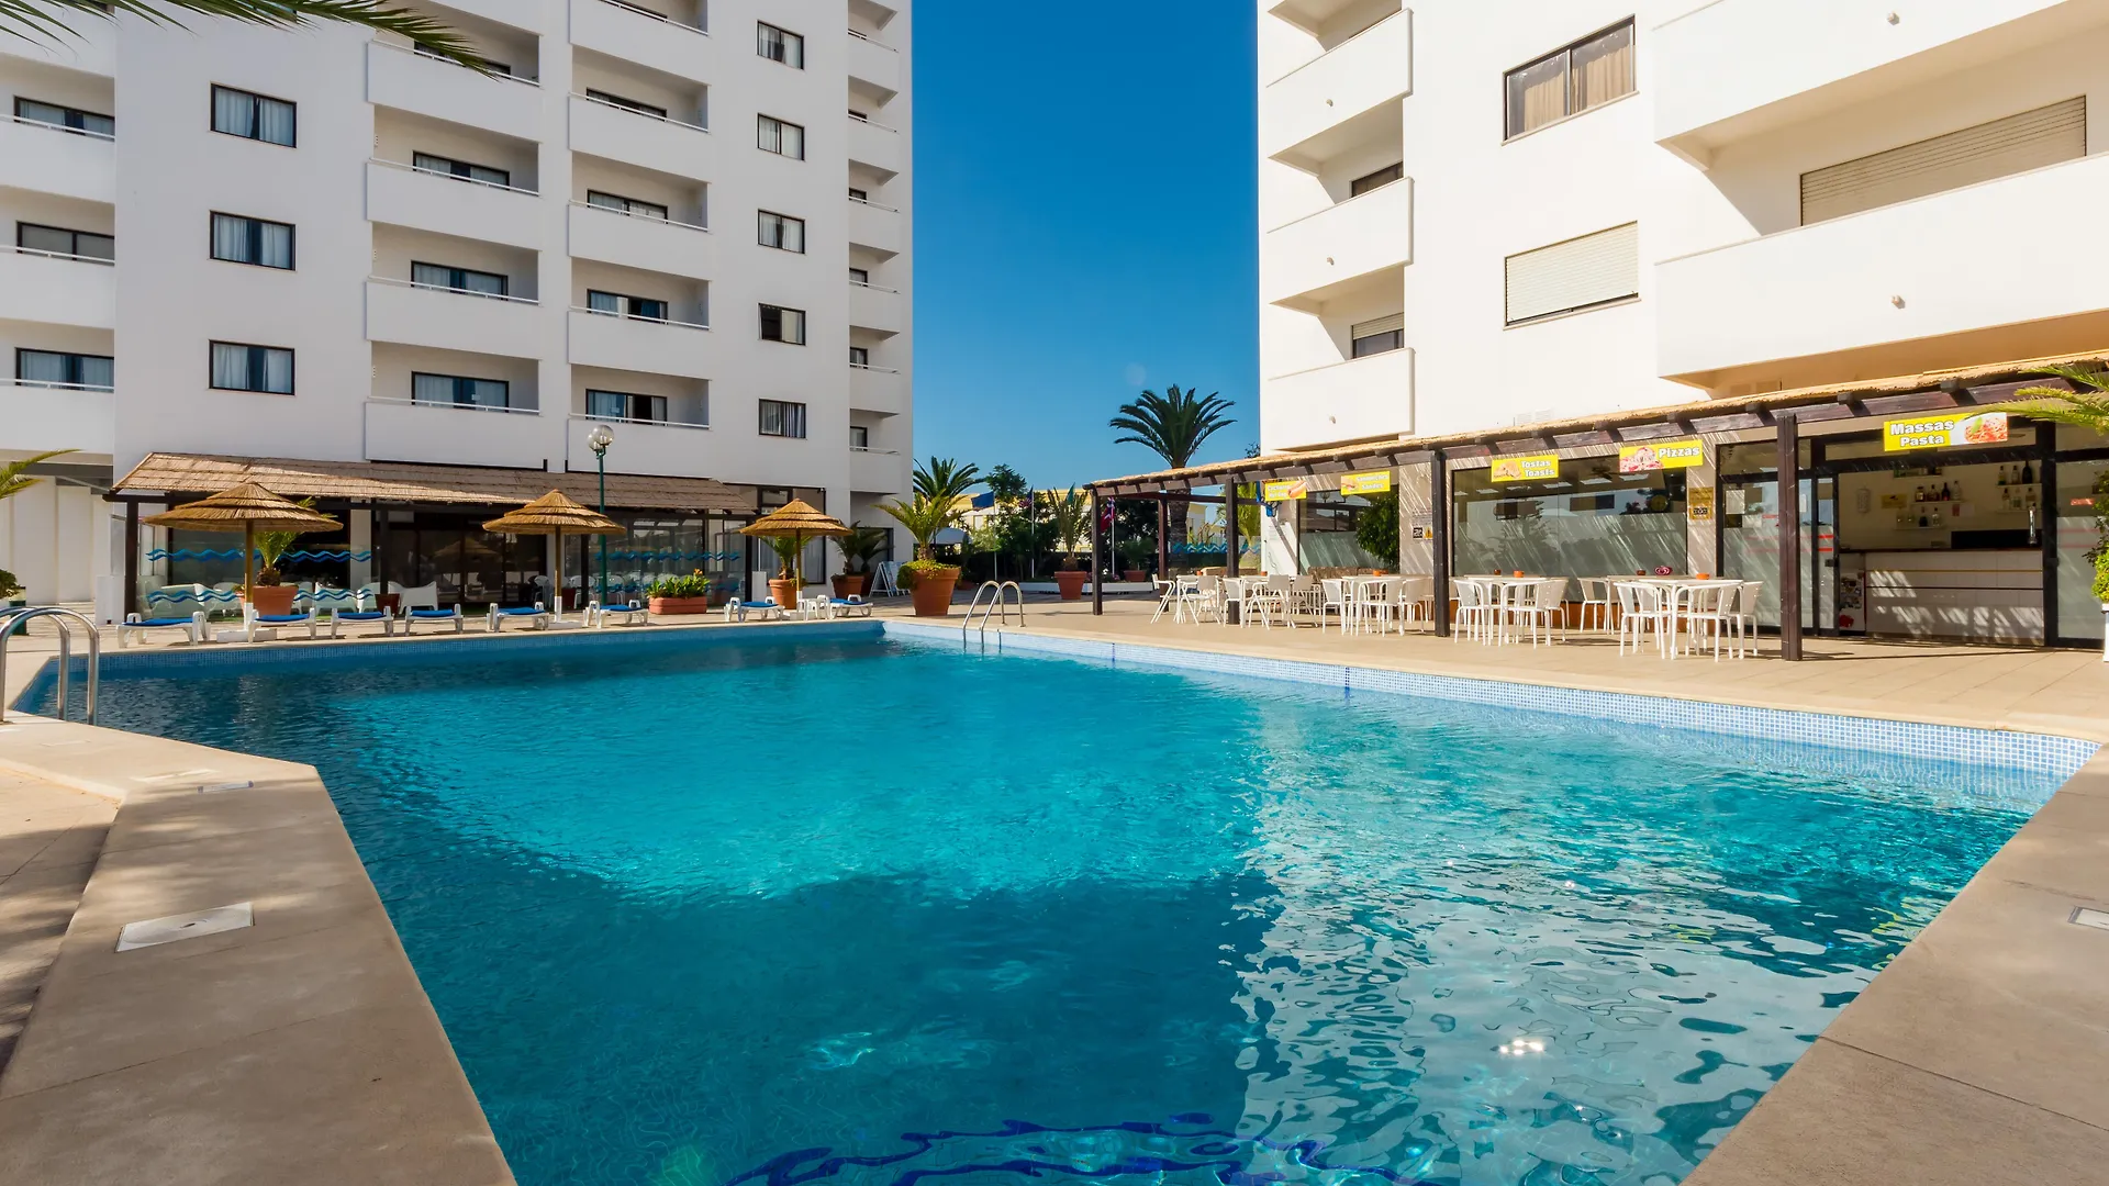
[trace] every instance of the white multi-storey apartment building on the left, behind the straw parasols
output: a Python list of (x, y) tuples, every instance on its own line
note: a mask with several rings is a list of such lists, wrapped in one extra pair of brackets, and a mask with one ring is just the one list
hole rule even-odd
[(477, 521), (593, 504), (599, 426), (633, 580), (744, 580), (734, 528), (793, 496), (888, 525), (907, 0), (411, 6), (504, 76), (344, 25), (0, 38), (0, 456), (80, 449), (0, 566), (103, 612), (226, 580), (230, 536), (127, 521), (255, 475), (346, 521), (289, 576), (519, 604), (555, 557)]

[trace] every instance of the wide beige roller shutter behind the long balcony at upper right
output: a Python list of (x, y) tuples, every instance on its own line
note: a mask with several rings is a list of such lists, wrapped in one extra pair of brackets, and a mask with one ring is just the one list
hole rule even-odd
[(2088, 99), (2067, 99), (1801, 175), (1801, 224), (1909, 203), (2088, 154)]

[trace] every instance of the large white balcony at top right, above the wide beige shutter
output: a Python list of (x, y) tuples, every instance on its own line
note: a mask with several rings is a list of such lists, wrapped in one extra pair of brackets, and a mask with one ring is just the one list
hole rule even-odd
[(1656, 139), (1708, 167), (1723, 144), (1953, 80), (2082, 32), (2094, 13), (2060, 0), (1719, 0), (1653, 30)]

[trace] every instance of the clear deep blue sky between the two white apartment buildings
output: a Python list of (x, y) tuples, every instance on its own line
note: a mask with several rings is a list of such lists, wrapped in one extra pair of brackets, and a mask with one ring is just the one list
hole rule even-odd
[(1221, 390), (1259, 439), (1249, 0), (917, 0), (915, 454), (1156, 468), (1105, 420)]

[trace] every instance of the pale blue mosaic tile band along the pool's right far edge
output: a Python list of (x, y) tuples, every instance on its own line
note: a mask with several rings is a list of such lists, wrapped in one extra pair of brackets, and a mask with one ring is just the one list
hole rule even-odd
[(983, 642), (979, 631), (966, 631), (962, 639), (962, 631), (957, 627), (947, 629), (922, 623), (888, 620), (886, 633), (888, 637), (949, 644), (964, 642), (968, 650), (985, 648), (991, 654), (1059, 654), (1111, 663), (1116, 667), (1158, 667), (1168, 671), (1208, 671), (1253, 680), (1324, 684), (1341, 688), (1350, 694), (1388, 692), (1400, 696), (1428, 696), (1438, 701), (1464, 701), (1508, 709), (1582, 715), (1618, 724), (1689, 728), (1763, 741), (1860, 749), (1936, 762), (1961, 762), (1970, 766), (2004, 766), (2012, 770), (2035, 770), (2065, 777), (2079, 770), (2079, 766), (2084, 766), (2098, 749), (2092, 741), (2042, 732), (1892, 722), (1841, 713), (1755, 709), (1710, 701), (1548, 688), (1542, 684), (1468, 680), (1459, 675), (1417, 675), (1411, 671), (1381, 671), (1339, 663), (1255, 658), (1246, 654), (1217, 654), (1206, 650), (1181, 650), (1128, 642), (1054, 637), (1025, 631), (989, 631), (987, 642)]

